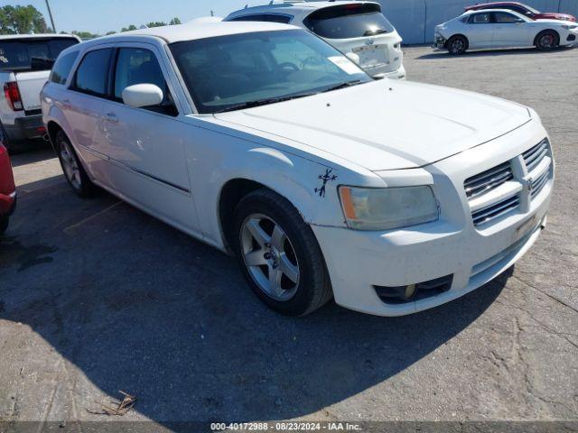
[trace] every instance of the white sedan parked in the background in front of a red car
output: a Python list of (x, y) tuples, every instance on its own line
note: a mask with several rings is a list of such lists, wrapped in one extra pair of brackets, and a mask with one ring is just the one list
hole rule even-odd
[(466, 12), (435, 26), (433, 48), (463, 54), (483, 48), (536, 46), (552, 50), (576, 43), (578, 24), (557, 20), (532, 20), (507, 9)]

